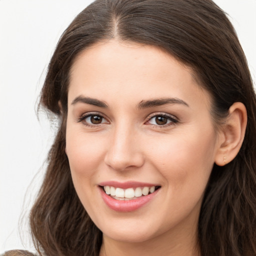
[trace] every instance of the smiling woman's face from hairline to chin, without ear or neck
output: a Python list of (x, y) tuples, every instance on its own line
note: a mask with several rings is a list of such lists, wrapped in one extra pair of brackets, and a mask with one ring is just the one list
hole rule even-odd
[(218, 147), (210, 105), (191, 70), (156, 47), (110, 40), (75, 59), (66, 154), (105, 237), (195, 234)]

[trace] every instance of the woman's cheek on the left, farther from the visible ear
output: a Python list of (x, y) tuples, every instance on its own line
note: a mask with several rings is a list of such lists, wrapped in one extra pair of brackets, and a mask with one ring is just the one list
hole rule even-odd
[(95, 175), (104, 155), (102, 141), (95, 136), (68, 129), (66, 131), (66, 154), (76, 193), (89, 212), (94, 207), (90, 200), (95, 188)]

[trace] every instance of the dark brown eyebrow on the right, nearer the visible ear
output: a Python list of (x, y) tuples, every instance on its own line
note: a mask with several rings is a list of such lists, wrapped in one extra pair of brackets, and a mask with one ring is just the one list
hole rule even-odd
[(161, 106), (166, 104), (182, 104), (189, 107), (189, 105), (184, 100), (179, 98), (156, 98), (156, 99), (149, 99), (149, 100), (141, 100), (138, 103), (137, 108), (141, 109), (141, 108)]

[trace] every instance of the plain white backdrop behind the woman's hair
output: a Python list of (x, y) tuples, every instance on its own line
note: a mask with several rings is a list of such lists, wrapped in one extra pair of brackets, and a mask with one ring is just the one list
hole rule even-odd
[[(59, 36), (90, 2), (0, 0), (0, 253), (33, 251), (27, 214), (54, 135), (36, 102)], [(215, 2), (230, 16), (255, 85), (256, 0)]]

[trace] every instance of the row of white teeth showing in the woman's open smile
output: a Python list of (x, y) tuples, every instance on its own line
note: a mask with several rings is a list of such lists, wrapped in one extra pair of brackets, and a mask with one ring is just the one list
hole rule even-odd
[(138, 186), (138, 187), (128, 187), (120, 188), (110, 185), (100, 186), (105, 194), (109, 195), (116, 200), (134, 200), (146, 195), (152, 194), (154, 191), (160, 188), (160, 186)]

